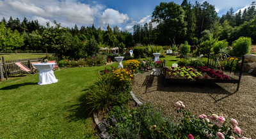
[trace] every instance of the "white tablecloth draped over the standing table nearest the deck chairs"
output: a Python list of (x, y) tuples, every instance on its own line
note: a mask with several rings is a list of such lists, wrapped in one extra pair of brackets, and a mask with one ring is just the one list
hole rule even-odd
[(52, 68), (54, 68), (55, 66), (54, 62), (36, 63), (33, 64), (33, 66), (35, 66), (35, 68), (39, 71), (39, 85), (52, 84), (58, 82), (58, 80), (54, 76), (54, 72), (52, 71)]

